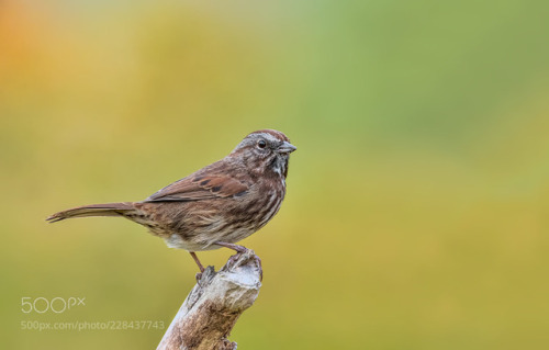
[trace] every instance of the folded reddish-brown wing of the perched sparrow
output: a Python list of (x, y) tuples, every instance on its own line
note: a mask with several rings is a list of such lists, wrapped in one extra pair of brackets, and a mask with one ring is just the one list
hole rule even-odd
[(248, 189), (247, 184), (221, 171), (198, 171), (161, 189), (144, 202), (188, 202), (223, 199), (243, 195)]

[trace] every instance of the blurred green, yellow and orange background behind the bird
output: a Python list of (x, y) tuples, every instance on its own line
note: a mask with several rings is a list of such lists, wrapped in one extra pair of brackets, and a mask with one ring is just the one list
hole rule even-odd
[[(21, 329), (167, 326), (194, 284), (143, 227), (44, 218), (142, 200), (270, 127), (299, 150), (282, 210), (243, 241), (265, 279), (239, 348), (549, 349), (548, 10), (2, 1), (2, 348), (155, 348), (165, 329)], [(71, 296), (86, 306), (21, 309)]]

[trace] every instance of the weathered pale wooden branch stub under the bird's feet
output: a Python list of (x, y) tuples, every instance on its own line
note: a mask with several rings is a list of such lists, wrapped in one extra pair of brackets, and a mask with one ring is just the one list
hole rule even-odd
[(261, 287), (261, 263), (253, 250), (219, 271), (208, 267), (171, 321), (157, 350), (232, 350), (227, 339)]

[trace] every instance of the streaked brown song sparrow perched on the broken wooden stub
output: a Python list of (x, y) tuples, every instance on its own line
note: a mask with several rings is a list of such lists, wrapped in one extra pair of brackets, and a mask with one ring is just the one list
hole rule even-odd
[(168, 247), (195, 251), (221, 247), (245, 252), (235, 242), (265, 226), (285, 194), (288, 160), (295, 147), (281, 132), (261, 129), (246, 136), (225, 158), (154, 193), (142, 202), (85, 205), (56, 213), (70, 217), (122, 216), (146, 226)]

